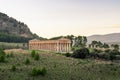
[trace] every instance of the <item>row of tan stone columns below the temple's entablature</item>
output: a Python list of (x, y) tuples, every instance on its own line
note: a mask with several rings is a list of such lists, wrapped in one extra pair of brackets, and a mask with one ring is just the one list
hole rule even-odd
[(30, 43), (29, 49), (70, 52), (70, 43)]

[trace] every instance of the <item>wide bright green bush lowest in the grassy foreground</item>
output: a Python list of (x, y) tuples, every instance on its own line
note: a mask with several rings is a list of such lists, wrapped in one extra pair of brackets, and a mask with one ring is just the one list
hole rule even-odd
[(38, 76), (38, 75), (45, 76), (46, 73), (47, 73), (46, 68), (42, 68), (42, 69), (33, 68), (32, 69), (32, 76)]

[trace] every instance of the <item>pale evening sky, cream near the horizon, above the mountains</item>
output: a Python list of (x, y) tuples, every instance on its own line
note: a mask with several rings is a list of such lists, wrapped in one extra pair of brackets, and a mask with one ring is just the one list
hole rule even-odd
[(120, 0), (0, 0), (0, 12), (45, 38), (120, 32)]

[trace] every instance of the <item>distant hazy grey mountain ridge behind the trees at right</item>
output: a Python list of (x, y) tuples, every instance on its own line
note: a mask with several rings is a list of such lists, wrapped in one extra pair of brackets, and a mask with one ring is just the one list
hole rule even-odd
[(87, 39), (88, 43), (91, 43), (93, 40), (105, 43), (120, 43), (120, 33), (111, 33), (106, 35), (92, 35), (88, 36)]

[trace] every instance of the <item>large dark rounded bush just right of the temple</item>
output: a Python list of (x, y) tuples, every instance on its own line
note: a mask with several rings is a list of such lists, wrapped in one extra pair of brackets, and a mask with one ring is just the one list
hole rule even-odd
[(82, 48), (75, 50), (72, 57), (84, 59), (89, 56), (89, 50), (87, 48)]

